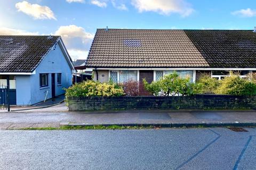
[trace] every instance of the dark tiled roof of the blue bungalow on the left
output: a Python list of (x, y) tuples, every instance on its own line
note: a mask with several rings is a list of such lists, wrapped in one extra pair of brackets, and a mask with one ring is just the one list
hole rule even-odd
[(0, 36), (0, 72), (33, 72), (59, 36)]

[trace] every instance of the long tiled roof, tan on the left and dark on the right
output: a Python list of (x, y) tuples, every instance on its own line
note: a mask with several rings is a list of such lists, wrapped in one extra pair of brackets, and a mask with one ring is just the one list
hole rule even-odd
[(252, 30), (98, 29), (86, 67), (256, 67)]

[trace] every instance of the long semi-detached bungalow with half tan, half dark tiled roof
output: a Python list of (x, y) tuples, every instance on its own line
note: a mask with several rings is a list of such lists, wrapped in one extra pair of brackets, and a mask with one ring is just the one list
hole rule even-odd
[(97, 29), (85, 63), (94, 80), (159, 80), (177, 71), (195, 82), (202, 73), (256, 72), (256, 31)]

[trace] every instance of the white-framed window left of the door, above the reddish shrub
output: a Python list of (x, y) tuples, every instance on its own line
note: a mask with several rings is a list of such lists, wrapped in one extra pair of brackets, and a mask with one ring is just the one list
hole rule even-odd
[(139, 70), (110, 70), (109, 80), (124, 83), (129, 80), (139, 81)]

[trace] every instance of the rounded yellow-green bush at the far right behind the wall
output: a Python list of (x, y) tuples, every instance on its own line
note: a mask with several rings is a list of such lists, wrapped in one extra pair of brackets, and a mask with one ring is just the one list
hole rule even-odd
[(215, 92), (217, 94), (251, 96), (256, 95), (256, 84), (233, 74), (220, 80), (220, 86)]

